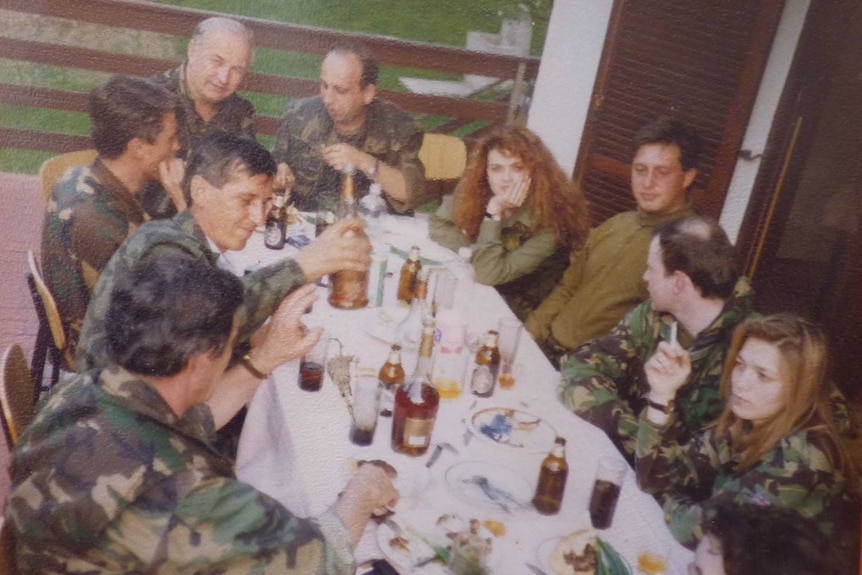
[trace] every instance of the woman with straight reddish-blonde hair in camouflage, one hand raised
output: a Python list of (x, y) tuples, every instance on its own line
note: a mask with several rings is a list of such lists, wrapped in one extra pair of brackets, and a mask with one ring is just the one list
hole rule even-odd
[(858, 507), (846, 513), (852, 472), (832, 424), (823, 333), (792, 314), (740, 325), (721, 378), (722, 413), (688, 444), (670, 444), (662, 438), (665, 411), (689, 365), (688, 354), (666, 342), (647, 362), (649, 404), (636, 451), (638, 484), (662, 504), (677, 540), (696, 545), (705, 509), (732, 502), (791, 509), (827, 537), (856, 531), (850, 541), (858, 546)]

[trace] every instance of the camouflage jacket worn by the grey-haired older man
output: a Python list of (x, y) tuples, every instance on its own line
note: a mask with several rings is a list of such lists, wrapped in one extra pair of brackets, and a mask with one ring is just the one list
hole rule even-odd
[(218, 111), (209, 121), (201, 118), (195, 103), (188, 95), (185, 78), (186, 64), (183, 63), (167, 72), (153, 76), (152, 79), (168, 90), (177, 100), (177, 138), (180, 142), (181, 158), (188, 156), (194, 145), (213, 130), (226, 132), (245, 132), (254, 135), (254, 105), (251, 102), (231, 94), (218, 104)]

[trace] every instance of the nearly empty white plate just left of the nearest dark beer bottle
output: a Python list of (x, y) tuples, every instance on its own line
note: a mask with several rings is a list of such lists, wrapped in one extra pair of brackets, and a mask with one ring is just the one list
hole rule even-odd
[(533, 486), (508, 467), (495, 463), (484, 461), (456, 463), (446, 471), (446, 484), (455, 495), (465, 501), (502, 510), (502, 506), (486, 495), (485, 491), (473, 481), (474, 477), (485, 477), (492, 489), (511, 496), (501, 496), (497, 500), (510, 511), (533, 508), (530, 503), (533, 498)]

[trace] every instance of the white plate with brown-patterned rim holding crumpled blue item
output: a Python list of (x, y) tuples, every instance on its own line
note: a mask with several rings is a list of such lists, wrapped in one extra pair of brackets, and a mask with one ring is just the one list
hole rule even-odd
[(557, 437), (556, 430), (539, 416), (509, 407), (475, 411), (467, 427), (484, 441), (531, 453), (547, 453)]

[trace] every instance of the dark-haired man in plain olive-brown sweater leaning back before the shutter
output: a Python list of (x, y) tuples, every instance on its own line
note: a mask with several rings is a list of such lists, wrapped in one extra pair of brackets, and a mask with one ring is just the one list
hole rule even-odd
[(611, 329), (647, 297), (641, 281), (650, 233), (693, 215), (687, 191), (700, 143), (686, 124), (660, 118), (634, 137), (631, 187), (637, 210), (617, 214), (572, 253), (557, 287), (531, 313), (527, 331), (553, 362)]

